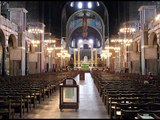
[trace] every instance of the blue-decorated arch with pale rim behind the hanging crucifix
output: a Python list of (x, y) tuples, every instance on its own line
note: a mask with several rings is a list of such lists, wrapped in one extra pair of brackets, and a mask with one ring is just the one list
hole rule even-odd
[[(83, 22), (81, 20), (80, 21), (76, 20), (76, 16), (78, 16), (79, 14), (81, 15), (81, 13), (83, 13), (84, 11), (87, 11), (91, 15), (96, 16), (95, 17), (96, 19), (93, 19), (93, 20), (87, 22), (88, 31), (94, 29), (100, 35), (100, 39), (99, 39), (100, 43), (101, 43), (100, 47), (104, 47), (104, 42), (105, 42), (105, 25), (104, 25), (103, 19), (95, 11), (88, 10), (88, 9), (82, 9), (82, 10), (79, 10), (79, 11), (76, 11), (75, 13), (73, 13), (69, 17), (69, 19), (67, 21), (67, 25), (66, 25), (66, 28), (67, 28), (67, 30), (66, 30), (66, 42), (67, 42), (67, 45), (66, 46), (67, 46), (67, 48), (69, 47), (68, 44), (71, 41), (71, 37), (72, 37), (73, 32), (75, 32), (79, 28), (81, 28), (81, 29), (83, 28), (83, 25), (82, 25)], [(76, 24), (75, 26), (73, 26), (73, 24), (75, 24), (77, 22), (78, 22), (78, 24)], [(99, 24), (99, 25), (97, 25), (97, 24)], [(83, 35), (81, 35), (81, 36), (83, 37)], [(87, 37), (88, 37), (88, 35), (87, 35)], [(83, 38), (86, 39), (86, 37), (83, 37)]]

